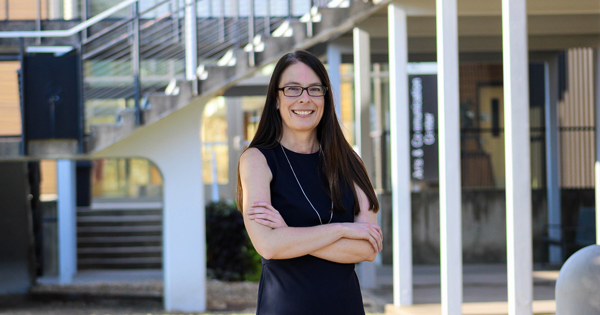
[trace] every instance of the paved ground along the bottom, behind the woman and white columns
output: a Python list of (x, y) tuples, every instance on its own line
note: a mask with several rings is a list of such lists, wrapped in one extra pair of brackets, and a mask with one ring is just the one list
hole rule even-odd
[[(533, 277), (534, 299), (545, 301), (542, 302), (544, 304), (542, 307), (550, 311), (544, 314), (553, 314), (554, 285), (558, 271), (538, 266)], [(0, 298), (0, 315), (165, 314), (166, 312), (161, 310), (161, 279), (160, 270), (80, 272), (70, 287), (57, 285), (56, 278), (40, 278), (38, 283), (41, 286), (34, 290), (38, 294), (35, 300)], [(507, 298), (506, 266), (464, 266), (463, 282), (463, 301), (472, 303), (466, 304), (464, 314), (506, 314), (502, 311), (506, 305), (502, 302)], [(388, 309), (386, 314), (440, 314), (439, 266), (415, 266), (413, 283), (415, 307), (406, 308), (405, 310), (408, 311), (404, 313)], [(212, 310), (208, 312), (209, 314), (254, 313), (256, 283), (209, 282), (207, 287), (209, 296), (223, 296), (228, 299), (226, 303), (217, 302), (215, 298), (209, 297), (209, 306), (212, 305), (212, 308), (209, 307)], [(85, 294), (81, 295), (78, 292)], [(95, 295), (104, 298), (95, 299)], [(106, 298), (107, 296), (109, 298)], [(377, 269), (377, 287), (363, 289), (363, 297), (368, 312), (373, 314), (384, 312), (385, 305), (392, 303), (391, 266), (384, 265)], [(482, 302), (490, 303), (481, 304)]]

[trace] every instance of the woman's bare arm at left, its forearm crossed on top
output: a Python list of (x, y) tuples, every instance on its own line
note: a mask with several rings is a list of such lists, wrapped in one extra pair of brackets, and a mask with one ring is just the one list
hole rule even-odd
[[(251, 220), (249, 209), (270, 207), (272, 179), (271, 170), (265, 157), (256, 148), (250, 148), (239, 160), (239, 173), (244, 192), (244, 224), (256, 251), (265, 259), (287, 259), (304, 256), (320, 248), (333, 244), (340, 238), (372, 239), (370, 233), (361, 226), (349, 227), (347, 224), (334, 223), (313, 227), (281, 227), (272, 229)], [(251, 206), (253, 203), (257, 206)], [(272, 207), (271, 207), (272, 209)], [(271, 210), (269, 209), (269, 210)]]

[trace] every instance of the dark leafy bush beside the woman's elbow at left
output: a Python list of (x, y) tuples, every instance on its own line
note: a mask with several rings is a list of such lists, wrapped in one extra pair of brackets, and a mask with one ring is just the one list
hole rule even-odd
[(235, 203), (206, 205), (206, 268), (208, 277), (225, 281), (257, 281), (260, 255), (254, 250)]

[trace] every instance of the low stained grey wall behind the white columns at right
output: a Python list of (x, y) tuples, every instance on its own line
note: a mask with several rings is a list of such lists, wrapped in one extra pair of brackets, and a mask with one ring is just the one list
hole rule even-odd
[[(463, 262), (506, 262), (506, 203), (503, 190), (463, 191)], [(547, 226), (545, 191), (533, 191), (533, 260), (542, 262), (547, 249), (542, 243)], [(379, 195), (384, 229), (383, 263), (392, 263), (391, 196)], [(413, 263), (439, 264), (439, 191), (412, 193)]]

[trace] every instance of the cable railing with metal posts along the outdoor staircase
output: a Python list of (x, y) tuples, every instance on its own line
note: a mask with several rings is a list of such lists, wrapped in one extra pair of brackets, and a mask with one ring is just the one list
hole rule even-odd
[[(299, 20), (311, 7), (325, 7), (327, 1), (124, 0), (106, 8), (110, 1), (31, 0), (37, 8), (36, 31), (0, 32), (0, 38), (37, 38), (40, 43), (45, 37), (79, 34), (79, 43), (73, 46), (82, 60), (85, 131), (89, 132), (92, 124), (118, 122), (128, 108), (136, 124), (143, 124), (147, 95), (164, 91), (172, 80), (190, 80), (198, 65), (218, 65), (232, 50), (246, 48), (253, 67), (257, 35), (271, 36), (284, 22)], [(61, 12), (56, 8), (59, 3)], [(106, 10), (90, 17), (92, 9), (102, 6)], [(4, 8), (0, 20), (17, 16), (8, 0), (0, 0), (0, 7)], [(186, 23), (190, 17), (194, 23)], [(81, 23), (65, 31), (49, 31), (41, 28), (43, 19), (80, 19)], [(186, 54), (190, 25), (196, 25), (193, 61)]]

